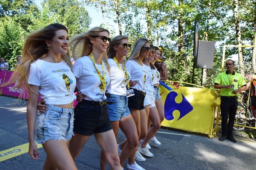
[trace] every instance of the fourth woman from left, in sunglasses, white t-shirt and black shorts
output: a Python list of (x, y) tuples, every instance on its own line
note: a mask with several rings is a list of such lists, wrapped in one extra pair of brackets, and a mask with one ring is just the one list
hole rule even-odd
[[(143, 67), (142, 59), (147, 58), (150, 53), (149, 41), (145, 38), (137, 40), (131, 51), (130, 57), (126, 62), (126, 69), (131, 74), (131, 80), (136, 81), (137, 84), (132, 88), (133, 96), (129, 97), (128, 107), (136, 123), (138, 140), (145, 138), (148, 132), (148, 117), (144, 107), (145, 81), (148, 76), (147, 70)], [(119, 144), (120, 149), (123, 148), (127, 140)], [(135, 149), (133, 154), (128, 158), (128, 162), (134, 162), (132, 166), (139, 166), (135, 160), (145, 161), (146, 159)], [(143, 169), (139, 166), (139, 169)]]

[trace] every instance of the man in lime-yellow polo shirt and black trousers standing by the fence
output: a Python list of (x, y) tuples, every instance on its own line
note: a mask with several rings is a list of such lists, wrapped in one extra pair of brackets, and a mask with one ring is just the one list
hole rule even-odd
[(215, 89), (221, 89), (221, 137), (219, 141), (224, 141), (227, 138), (231, 142), (236, 142), (233, 137), (233, 126), (238, 105), (236, 95), (246, 89), (246, 82), (242, 75), (234, 71), (233, 60), (227, 60), (225, 65), (227, 71), (218, 74), (213, 86)]

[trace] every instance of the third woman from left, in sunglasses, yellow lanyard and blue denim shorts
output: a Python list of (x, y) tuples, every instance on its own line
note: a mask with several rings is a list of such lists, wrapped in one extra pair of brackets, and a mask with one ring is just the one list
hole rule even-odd
[[(121, 166), (139, 143), (136, 125), (128, 108), (127, 96), (129, 96), (129, 91), (126, 89), (126, 86), (130, 88), (136, 84), (135, 81), (129, 82), (130, 73), (125, 67), (124, 56), (128, 55), (130, 48), (131, 44), (129, 44), (128, 37), (118, 35), (111, 40), (107, 49), (110, 84), (106, 91), (106, 101), (113, 102), (113, 104), (107, 104), (108, 116), (115, 136), (117, 137), (118, 127), (120, 127), (128, 141), (122, 151), (117, 145)], [(101, 156), (104, 155), (101, 154)], [(101, 169), (106, 168), (107, 162), (105, 160), (105, 157), (101, 157)]]

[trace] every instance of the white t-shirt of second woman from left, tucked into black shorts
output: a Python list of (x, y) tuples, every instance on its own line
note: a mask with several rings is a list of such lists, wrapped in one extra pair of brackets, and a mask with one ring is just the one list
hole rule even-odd
[[(106, 77), (106, 91), (110, 79), (107, 67), (105, 66), (104, 62), (103, 66)], [(96, 67), (99, 70), (101, 76), (103, 76), (102, 65), (96, 64)], [(105, 91), (101, 92), (99, 89), (101, 81), (96, 72), (93, 61), (88, 56), (84, 56), (76, 60), (73, 65), (73, 70), (75, 77), (78, 78), (77, 88), (82, 94), (86, 95), (85, 100), (103, 101), (106, 99)]]

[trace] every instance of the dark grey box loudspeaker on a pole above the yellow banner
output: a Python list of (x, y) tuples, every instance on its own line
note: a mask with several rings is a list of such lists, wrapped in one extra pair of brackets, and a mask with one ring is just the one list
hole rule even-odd
[(197, 68), (212, 69), (215, 42), (198, 41), (197, 58), (195, 66)]

